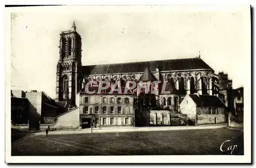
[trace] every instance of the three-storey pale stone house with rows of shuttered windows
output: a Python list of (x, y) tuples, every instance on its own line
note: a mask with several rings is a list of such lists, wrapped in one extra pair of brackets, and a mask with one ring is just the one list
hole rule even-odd
[[(80, 94), (80, 128), (133, 127), (133, 94)], [(93, 125), (92, 125), (93, 124)]]

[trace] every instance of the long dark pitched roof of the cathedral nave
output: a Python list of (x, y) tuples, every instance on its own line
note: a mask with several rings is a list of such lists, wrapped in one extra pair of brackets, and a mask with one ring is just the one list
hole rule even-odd
[(157, 67), (159, 68), (159, 71), (190, 69), (213, 70), (201, 58), (197, 57), (188, 59), (89, 65), (82, 67), (82, 75), (141, 73), (144, 71), (146, 67), (148, 67), (150, 71), (156, 71)]

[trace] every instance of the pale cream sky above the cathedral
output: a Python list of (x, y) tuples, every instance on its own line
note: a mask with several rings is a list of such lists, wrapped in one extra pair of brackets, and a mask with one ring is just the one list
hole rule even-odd
[(61, 31), (73, 21), (82, 65), (199, 56), (233, 88), (250, 71), (250, 8), (202, 6), (33, 7), (11, 14), (11, 88), (55, 98)]

